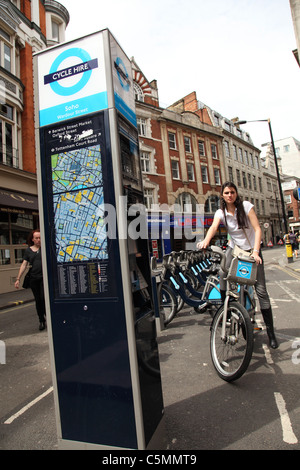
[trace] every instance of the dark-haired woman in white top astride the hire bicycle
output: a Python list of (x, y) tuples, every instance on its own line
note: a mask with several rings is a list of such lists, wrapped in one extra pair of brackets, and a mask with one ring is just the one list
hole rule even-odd
[[(214, 216), (212, 226), (209, 228), (203, 241), (197, 244), (199, 249), (208, 248), (210, 241), (215, 236), (220, 223), (223, 223), (230, 235), (229, 245), (226, 250), (226, 267), (230, 266), (233, 255), (234, 244), (239, 248), (252, 251), (252, 257), (257, 263), (257, 281), (255, 290), (257, 293), (261, 313), (267, 327), (267, 334), (271, 348), (278, 348), (278, 343), (274, 333), (273, 315), (269, 294), (266, 289), (265, 272), (263, 259), (260, 250), (261, 228), (254, 206), (249, 201), (242, 202), (238, 195), (237, 187), (234, 183), (227, 181), (221, 189), (221, 208), (217, 210)], [(225, 274), (220, 273), (221, 297), (224, 301), (226, 295)]]

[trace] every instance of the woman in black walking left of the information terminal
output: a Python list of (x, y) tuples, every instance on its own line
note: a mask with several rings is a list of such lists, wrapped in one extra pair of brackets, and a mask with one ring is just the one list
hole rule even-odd
[(28, 266), (31, 266), (29, 287), (35, 299), (36, 311), (40, 322), (39, 329), (44, 330), (46, 327), (46, 308), (42, 272), (41, 234), (39, 229), (33, 230), (29, 235), (28, 248), (25, 250), (23, 262), (15, 282), (16, 289), (20, 288), (21, 277)]

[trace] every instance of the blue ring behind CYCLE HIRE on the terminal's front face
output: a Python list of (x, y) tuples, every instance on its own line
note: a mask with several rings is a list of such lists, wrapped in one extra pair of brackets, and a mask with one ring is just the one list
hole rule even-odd
[[(62, 52), (53, 62), (51, 69), (50, 69), (50, 74), (55, 75), (62, 62), (66, 59), (69, 59), (70, 57), (77, 57), (79, 58), (83, 63), (90, 62), (91, 61), (91, 56), (89, 55), (88, 52), (86, 52), (84, 49), (80, 49), (78, 47), (74, 47), (72, 49), (68, 49), (64, 52)], [(64, 87), (60, 85), (57, 81), (50, 83), (50, 86), (54, 93), (60, 96), (71, 96), (75, 95), (75, 93), (78, 93), (82, 88), (85, 87), (85, 85), (88, 83), (92, 75), (92, 70), (86, 70), (84, 73), (82, 73), (82, 78), (75, 84), (70, 87)], [(66, 77), (65, 77), (66, 78)]]

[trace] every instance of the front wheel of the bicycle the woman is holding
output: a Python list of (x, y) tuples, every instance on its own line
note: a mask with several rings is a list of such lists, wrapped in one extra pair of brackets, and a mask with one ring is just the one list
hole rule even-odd
[(253, 326), (247, 310), (238, 302), (229, 302), (225, 335), (222, 336), (224, 305), (211, 326), (210, 353), (217, 374), (225, 381), (240, 378), (247, 370), (253, 352)]

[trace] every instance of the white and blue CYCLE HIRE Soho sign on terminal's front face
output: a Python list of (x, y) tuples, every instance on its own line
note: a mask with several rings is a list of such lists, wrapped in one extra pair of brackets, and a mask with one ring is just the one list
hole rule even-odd
[(40, 126), (108, 107), (101, 33), (38, 56)]

